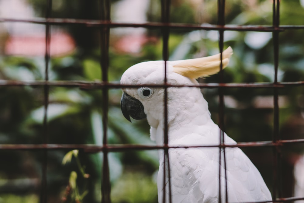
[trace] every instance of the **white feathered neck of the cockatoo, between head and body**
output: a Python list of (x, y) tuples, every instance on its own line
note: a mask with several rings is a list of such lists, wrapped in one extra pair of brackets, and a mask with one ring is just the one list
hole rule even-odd
[(165, 119), (163, 111), (158, 118), (147, 116), (151, 126), (151, 139), (155, 140), (157, 145), (164, 144), (164, 125), (166, 120), (169, 142), (193, 132), (194, 128), (198, 126), (206, 125), (208, 122), (213, 123), (208, 110), (208, 103), (198, 88), (192, 88), (191, 92), (185, 91), (184, 97), (179, 99), (168, 100), (167, 119)]

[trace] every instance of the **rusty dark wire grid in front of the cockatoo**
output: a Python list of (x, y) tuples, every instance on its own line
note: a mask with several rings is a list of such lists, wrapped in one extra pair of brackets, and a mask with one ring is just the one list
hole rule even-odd
[[(274, 70), (275, 70), (275, 80), (274, 82), (267, 83), (223, 83), (223, 72), (220, 72), (219, 83), (200, 83), (198, 86), (187, 86), (187, 87), (199, 87), (199, 88), (218, 88), (219, 89), (219, 127), (224, 129), (224, 100), (223, 100), (223, 89), (224, 88), (272, 88), (273, 89), (273, 103), (274, 103), (274, 115), (273, 115), (273, 139), (272, 141), (263, 141), (263, 142), (241, 142), (238, 144), (227, 145), (224, 144), (224, 133), (223, 130), (219, 131), (220, 144), (219, 145), (198, 145), (192, 147), (218, 147), (219, 150), (223, 149), (223, 156), (225, 160), (225, 169), (226, 169), (226, 159), (225, 159), (225, 148), (226, 147), (261, 147), (269, 146), (273, 149), (273, 191), (272, 198), (273, 201), (259, 201), (262, 202), (288, 202), (295, 200), (304, 200), (304, 197), (301, 198), (282, 198), (282, 185), (281, 185), (281, 167), (280, 167), (280, 152), (279, 147), (282, 145), (289, 145), (293, 143), (304, 143), (304, 139), (293, 139), (293, 140), (282, 140), (279, 137), (279, 106), (278, 106), (278, 89), (286, 86), (302, 86), (304, 81), (299, 82), (278, 82), (278, 51), (279, 51), (279, 33), (286, 29), (304, 29), (304, 26), (280, 26), (280, 1), (273, 1), (273, 23), (272, 26), (226, 26), (225, 25), (225, 0), (218, 0), (218, 23), (217, 25), (208, 25), (208, 26), (198, 26), (192, 24), (180, 24), (180, 23), (170, 23), (170, 0), (161, 1), (161, 23), (116, 23), (112, 22), (110, 19), (110, 0), (101, 0), (100, 1), (100, 10), (101, 17), (100, 20), (83, 20), (83, 19), (55, 19), (51, 18), (52, 10), (52, 0), (47, 0), (47, 9), (45, 18), (37, 18), (31, 20), (25, 19), (12, 19), (12, 18), (0, 18), (0, 22), (27, 22), (27, 23), (37, 23), (46, 25), (45, 35), (46, 35), (46, 49), (45, 49), (45, 79), (43, 81), (35, 82), (24, 82), (24, 81), (0, 81), (0, 86), (43, 86), (44, 88), (44, 117), (43, 117), (43, 144), (1, 144), (0, 150), (42, 150), (43, 151), (43, 164), (42, 164), (42, 182), (41, 182), (41, 194), (40, 202), (47, 202), (47, 152), (49, 150), (57, 149), (83, 149), (85, 152), (103, 152), (103, 182), (102, 182), (102, 203), (111, 202), (110, 199), (110, 180), (109, 180), (109, 162), (108, 162), (108, 152), (119, 152), (127, 150), (155, 150), (162, 149), (164, 150), (164, 164), (169, 163), (169, 148), (188, 148), (188, 146), (168, 146), (168, 108), (167, 108), (167, 88), (172, 87), (173, 85), (168, 85), (166, 74), (164, 79), (164, 85), (147, 85), (149, 87), (163, 87), (164, 91), (164, 145), (163, 146), (150, 146), (150, 145), (108, 145), (107, 144), (107, 128), (108, 128), (108, 105), (109, 105), (109, 92), (110, 88), (136, 88), (135, 85), (120, 85), (116, 83), (111, 83), (108, 81), (108, 66), (109, 66), (109, 33), (111, 28), (115, 27), (144, 27), (144, 28), (160, 28), (163, 33), (163, 60), (166, 71), (166, 61), (168, 60), (168, 39), (169, 39), (169, 30), (176, 28), (183, 28), (189, 30), (218, 30), (219, 31), (219, 51), (223, 51), (223, 36), (225, 30), (235, 30), (235, 31), (260, 31), (260, 32), (272, 32), (273, 34), (273, 54), (274, 54)], [(100, 50), (101, 58), (100, 65), (102, 69), (102, 82), (86, 82), (86, 81), (49, 81), (48, 80), (48, 69), (49, 69), (49, 60), (50, 60), (50, 26), (51, 25), (63, 25), (63, 24), (81, 24), (85, 26), (95, 26), (99, 27), (101, 30), (100, 35)], [(221, 55), (222, 58), (222, 55)], [(222, 69), (222, 64), (221, 64)], [(61, 87), (78, 87), (80, 89), (102, 89), (102, 96), (104, 98), (102, 111), (102, 126), (103, 126), (103, 145), (88, 145), (88, 144), (48, 144), (48, 124), (47, 124), (47, 109), (49, 103), (49, 88), (51, 86), (61, 86)], [(174, 86), (174, 87), (185, 87), (185, 86)], [(219, 153), (221, 156), (221, 153)], [(169, 167), (169, 164), (168, 166)], [(219, 167), (219, 174), (221, 168)], [(169, 200), (166, 200), (165, 189), (163, 193), (163, 203), (166, 201), (172, 202), (171, 200), (171, 187), (170, 187), (170, 169), (166, 170), (164, 167), (164, 177), (167, 173), (169, 176)], [(226, 173), (226, 171), (225, 171)], [(219, 178), (220, 180), (220, 178)], [(165, 178), (164, 182), (165, 184)], [(221, 190), (226, 192), (226, 202), (227, 200), (227, 179), (226, 187), (221, 188), (219, 184), (219, 197), (221, 196)], [(278, 198), (277, 198), (278, 197)], [(221, 198), (219, 198), (221, 202)]]

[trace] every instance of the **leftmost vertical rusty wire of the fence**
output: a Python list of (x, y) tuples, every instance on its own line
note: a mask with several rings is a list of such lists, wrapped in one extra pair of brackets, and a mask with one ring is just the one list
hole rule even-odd
[[(46, 18), (51, 17), (52, 12), (52, 0), (47, 0), (47, 12)], [(49, 80), (49, 61), (50, 61), (50, 24), (46, 24), (45, 30), (45, 75), (44, 80), (47, 82)], [(49, 104), (49, 86), (43, 86), (43, 103), (44, 103), (44, 112), (43, 112), (43, 144), (47, 145), (48, 142), (48, 126), (47, 126), (47, 108)], [(43, 162), (42, 162), (42, 180), (41, 180), (41, 193), (40, 193), (40, 202), (47, 202), (47, 149), (43, 149)]]

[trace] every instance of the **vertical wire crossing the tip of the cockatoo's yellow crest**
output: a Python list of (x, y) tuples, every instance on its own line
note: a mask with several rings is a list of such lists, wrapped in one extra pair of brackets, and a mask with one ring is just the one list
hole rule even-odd
[[(218, 0), (218, 24), (221, 26), (225, 25), (225, 0)], [(224, 46), (224, 31), (219, 30), (219, 51), (220, 51), (220, 83), (223, 82), (223, 46)], [(226, 153), (225, 153), (225, 138), (224, 138), (224, 96), (223, 89), (219, 87), (219, 203), (222, 202), (222, 188), (221, 188), (221, 149), (223, 147), (223, 156), (224, 156), (224, 174), (225, 174), (225, 201), (228, 202), (228, 191), (227, 191), (227, 173), (226, 173)]]

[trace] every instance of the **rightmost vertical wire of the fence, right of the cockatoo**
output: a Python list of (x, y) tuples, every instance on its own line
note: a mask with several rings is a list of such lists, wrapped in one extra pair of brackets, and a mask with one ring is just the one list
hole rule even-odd
[[(273, 1), (273, 22), (274, 28), (278, 28), (280, 24), (280, 2), (279, 0)], [(279, 32), (277, 30), (273, 31), (273, 50), (274, 50), (274, 69), (275, 69), (275, 79), (274, 84), (278, 83), (278, 60), (279, 60)], [(274, 114), (273, 114), (273, 142), (276, 143), (279, 137), (279, 105), (278, 105), (278, 89), (274, 88), (273, 93), (274, 102)], [(272, 198), (275, 199), (278, 195), (282, 198), (282, 178), (281, 178), (281, 153), (279, 146), (275, 145), (273, 147), (273, 194)]]

